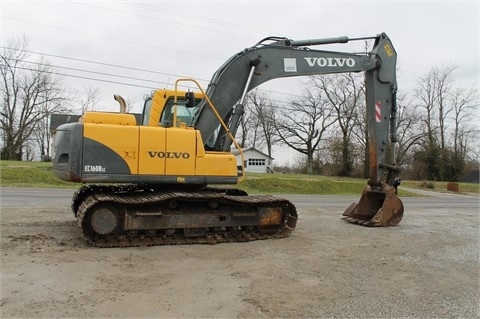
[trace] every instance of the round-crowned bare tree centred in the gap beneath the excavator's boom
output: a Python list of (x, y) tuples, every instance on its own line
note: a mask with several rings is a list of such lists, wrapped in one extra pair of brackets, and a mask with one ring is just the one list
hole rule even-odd
[(316, 89), (305, 89), (304, 97), (280, 110), (275, 129), (280, 140), (307, 157), (307, 174), (313, 174), (314, 153), (324, 133), (334, 124), (333, 109)]

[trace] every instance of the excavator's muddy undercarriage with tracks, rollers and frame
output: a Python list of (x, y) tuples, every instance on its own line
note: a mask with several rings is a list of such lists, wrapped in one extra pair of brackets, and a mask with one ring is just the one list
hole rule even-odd
[(288, 200), (228, 188), (91, 185), (75, 193), (72, 209), (84, 237), (97, 247), (283, 238), (297, 223)]

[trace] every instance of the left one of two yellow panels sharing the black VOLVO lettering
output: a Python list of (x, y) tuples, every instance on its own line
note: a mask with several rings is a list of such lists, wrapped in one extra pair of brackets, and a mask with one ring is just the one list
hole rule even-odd
[(165, 174), (166, 136), (161, 126), (140, 127), (138, 174)]

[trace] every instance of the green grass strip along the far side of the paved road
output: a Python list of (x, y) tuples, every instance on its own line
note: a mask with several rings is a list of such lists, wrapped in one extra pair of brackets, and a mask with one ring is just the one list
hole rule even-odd
[[(402, 186), (422, 189), (420, 181), (402, 181), (400, 196), (418, 196)], [(433, 191), (446, 191), (446, 182), (434, 182)], [(247, 173), (244, 181), (235, 185), (251, 194), (315, 194), (360, 195), (367, 185), (365, 179), (327, 177), (303, 174)], [(78, 183), (59, 180), (53, 174), (52, 163), (0, 161), (0, 186), (79, 188)], [(425, 188), (423, 188), (425, 189)], [(479, 184), (460, 183), (461, 193), (479, 193)]]

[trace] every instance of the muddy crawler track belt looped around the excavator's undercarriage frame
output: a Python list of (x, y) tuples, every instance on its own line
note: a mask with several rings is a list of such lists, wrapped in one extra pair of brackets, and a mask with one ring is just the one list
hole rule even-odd
[[(95, 193), (95, 192), (93, 192)], [(98, 203), (115, 203), (125, 206), (146, 206), (152, 204), (161, 205), (169, 200), (177, 201), (202, 201), (218, 200), (225, 205), (228, 203), (235, 206), (262, 206), (262, 207), (283, 207), (286, 212), (284, 224), (276, 232), (261, 233), (256, 231), (239, 230), (235, 232), (221, 231), (207, 233), (206, 236), (199, 237), (178, 237), (161, 235), (110, 235), (95, 236), (87, 227), (83, 227), (84, 217), (89, 209)], [(75, 199), (74, 199), (75, 200)], [(77, 225), (82, 229), (85, 239), (96, 247), (139, 247), (139, 246), (158, 246), (158, 245), (185, 245), (185, 244), (218, 244), (228, 242), (247, 242), (254, 240), (276, 239), (288, 237), (294, 230), (297, 223), (297, 212), (295, 206), (286, 199), (273, 196), (232, 196), (221, 192), (200, 191), (200, 192), (162, 192), (162, 193), (96, 193), (90, 194), (78, 206)]]

